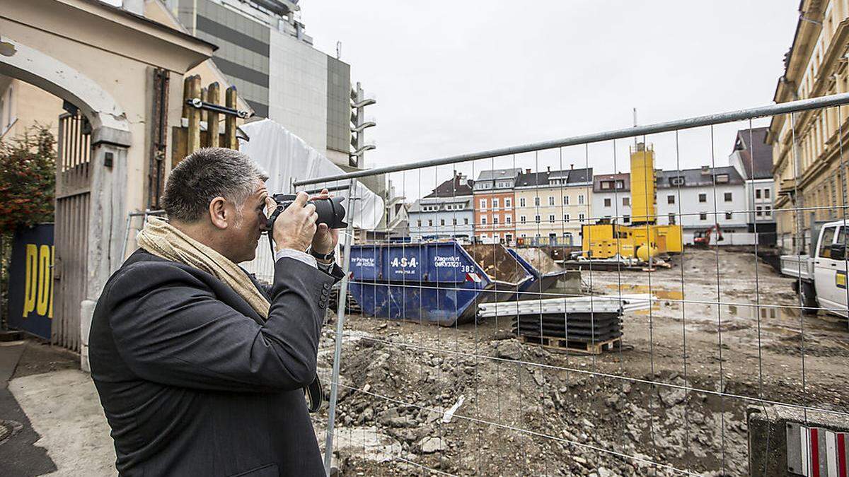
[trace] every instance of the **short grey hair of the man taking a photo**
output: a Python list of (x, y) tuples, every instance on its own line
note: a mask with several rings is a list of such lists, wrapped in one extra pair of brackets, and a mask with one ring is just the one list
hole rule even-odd
[(209, 210), (212, 199), (223, 197), (242, 205), (256, 190), (256, 182), (267, 179), (247, 154), (234, 149), (198, 149), (171, 171), (162, 203), (169, 219), (195, 222)]

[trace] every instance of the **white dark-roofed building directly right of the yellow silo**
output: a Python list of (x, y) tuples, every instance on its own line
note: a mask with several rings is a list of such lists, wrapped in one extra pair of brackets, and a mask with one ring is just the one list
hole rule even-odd
[(719, 244), (754, 244), (745, 213), (745, 181), (734, 167), (702, 166), (656, 174), (657, 223), (680, 225), (683, 244), (693, 244), (694, 234), (714, 224), (722, 230)]

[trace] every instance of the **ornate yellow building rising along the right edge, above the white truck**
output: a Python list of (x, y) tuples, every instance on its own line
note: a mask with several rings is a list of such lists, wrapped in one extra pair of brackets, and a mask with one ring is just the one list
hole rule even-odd
[[(774, 100), (784, 103), (849, 92), (846, 45), (849, 0), (802, 0), (799, 21), (784, 55), (784, 75)], [(777, 196), (774, 219), (785, 253), (807, 252), (818, 223), (841, 218), (846, 205), (845, 140), (849, 107), (817, 109), (773, 117), (767, 143), (773, 149)], [(845, 146), (844, 146), (845, 147)], [(844, 153), (844, 154), (841, 154)]]

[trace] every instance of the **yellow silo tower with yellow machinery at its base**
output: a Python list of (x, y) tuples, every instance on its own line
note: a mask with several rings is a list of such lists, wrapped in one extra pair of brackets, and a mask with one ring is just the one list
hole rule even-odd
[(655, 151), (637, 143), (631, 148), (631, 225), (614, 219), (583, 226), (583, 256), (649, 261), (657, 255), (681, 253), (681, 226), (656, 223), (655, 186)]

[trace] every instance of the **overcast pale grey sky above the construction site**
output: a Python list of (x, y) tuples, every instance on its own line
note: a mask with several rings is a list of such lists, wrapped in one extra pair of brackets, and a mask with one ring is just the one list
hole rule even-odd
[[(798, 0), (470, 1), (302, 0), (315, 46), (351, 65), (378, 104), (367, 109), (385, 166), (639, 124), (741, 109), (773, 100), (792, 42)], [(754, 126), (767, 125), (756, 121)], [(656, 166), (728, 165), (738, 128), (648, 137)], [(628, 144), (564, 149), (562, 165), (628, 171)], [(561, 164), (560, 152), (475, 161), (482, 169)], [(474, 168), (474, 171), (473, 171)], [(450, 177), (395, 176), (408, 198)]]

